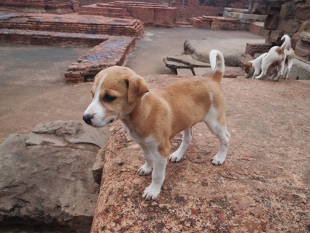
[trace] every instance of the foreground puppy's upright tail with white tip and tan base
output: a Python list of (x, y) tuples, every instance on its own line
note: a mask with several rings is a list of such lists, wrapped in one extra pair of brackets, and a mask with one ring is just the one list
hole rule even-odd
[(220, 81), (223, 78), (225, 72), (225, 61), (222, 52), (218, 50), (211, 50), (209, 53), (209, 59), (211, 64), (211, 69), (214, 71), (212, 79)]

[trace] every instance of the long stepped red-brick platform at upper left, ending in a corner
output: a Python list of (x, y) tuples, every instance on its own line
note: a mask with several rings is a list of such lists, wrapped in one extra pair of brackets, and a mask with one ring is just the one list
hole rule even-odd
[(48, 32), (108, 34), (141, 37), (143, 23), (138, 19), (117, 19), (86, 15), (32, 14), (31, 16), (1, 17), (0, 29)]

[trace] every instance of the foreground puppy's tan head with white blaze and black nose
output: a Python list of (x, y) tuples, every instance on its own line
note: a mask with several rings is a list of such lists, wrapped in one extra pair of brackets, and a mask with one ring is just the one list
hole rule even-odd
[(92, 103), (85, 110), (83, 120), (88, 125), (102, 127), (130, 114), (149, 89), (134, 71), (112, 66), (96, 75), (91, 92)]

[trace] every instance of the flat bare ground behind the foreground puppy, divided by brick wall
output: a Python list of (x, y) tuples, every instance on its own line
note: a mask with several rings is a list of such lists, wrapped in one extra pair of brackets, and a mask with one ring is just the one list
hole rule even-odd
[[(163, 57), (183, 52), (186, 39), (208, 39), (210, 50), (236, 54), (245, 52), (246, 43), (265, 41), (251, 32), (147, 28), (126, 66), (141, 76), (169, 74)], [(91, 100), (92, 83), (66, 85), (63, 74), (89, 49), (0, 45), (0, 142), (12, 133), (29, 133), (41, 122), (81, 120)]]

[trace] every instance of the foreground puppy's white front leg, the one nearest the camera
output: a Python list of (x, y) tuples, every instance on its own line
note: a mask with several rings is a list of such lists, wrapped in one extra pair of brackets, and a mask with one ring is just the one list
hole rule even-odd
[(152, 183), (145, 188), (143, 198), (147, 200), (156, 200), (161, 193), (161, 185), (165, 180), (165, 171), (167, 166), (167, 156), (162, 156), (158, 150), (152, 152), (154, 158), (154, 168), (152, 172)]

